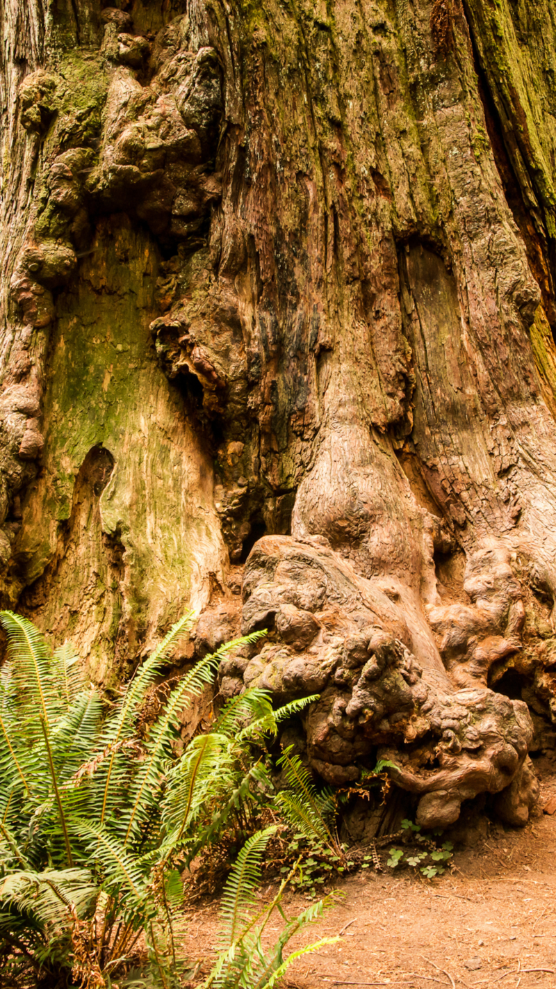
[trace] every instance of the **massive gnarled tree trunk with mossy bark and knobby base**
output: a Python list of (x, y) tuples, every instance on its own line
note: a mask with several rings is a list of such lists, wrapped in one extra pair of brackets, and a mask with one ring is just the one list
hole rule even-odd
[(553, 4), (0, 25), (3, 605), (104, 681), (241, 611), (269, 635), (221, 693), (319, 693), (322, 778), (378, 756), (425, 826), (481, 793), (523, 824), (556, 722)]

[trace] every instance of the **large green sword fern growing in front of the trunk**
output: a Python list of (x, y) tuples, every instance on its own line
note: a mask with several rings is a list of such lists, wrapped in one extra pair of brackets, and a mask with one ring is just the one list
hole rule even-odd
[[(6, 959), (19, 959), (38, 978), (61, 973), (60, 986), (72, 971), (81, 978), (89, 963), (96, 979), (112, 978), (143, 929), (153, 971), (170, 986), (177, 864), (216, 839), (230, 818), (247, 822), (251, 815), (253, 830), (253, 808), (270, 798), (277, 806), (265, 740), (314, 698), (275, 711), (264, 691), (248, 690), (224, 705), (213, 730), (194, 738), (182, 758), (175, 749), (184, 710), (213, 681), (221, 660), (264, 633), (226, 643), (178, 677), (154, 723), (138, 733), (147, 691), (194, 619), (189, 612), (172, 627), (109, 705), (87, 683), (71, 644), (52, 652), (31, 622), (0, 612), (8, 636), (0, 674), (0, 977)], [(282, 760), (296, 787), (279, 798), (284, 814), (293, 820), (297, 808), (308, 831), (330, 839), (328, 796), (316, 794), (294, 758)], [(317, 909), (286, 926), (274, 953), (265, 955), (265, 918), (250, 917), (270, 834), (243, 833), (247, 841), (223, 901), (229, 944), (222, 950), (235, 944), (243, 959), (243, 981), (233, 984), (253, 989), (274, 985), (288, 932)], [(214, 985), (231, 986), (235, 970), (222, 962)]]

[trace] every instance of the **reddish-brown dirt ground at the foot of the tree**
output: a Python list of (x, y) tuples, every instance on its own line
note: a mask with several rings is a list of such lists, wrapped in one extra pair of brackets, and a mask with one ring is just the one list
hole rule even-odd
[[(525, 828), (485, 826), (433, 880), (385, 866), (339, 883), (337, 906), (290, 946), (340, 940), (296, 960), (285, 985), (556, 989), (556, 813), (543, 810), (556, 801), (554, 757), (535, 767), (541, 792)], [(283, 906), (294, 916), (307, 900), (288, 893)], [(199, 961), (200, 978), (213, 956), (218, 901), (188, 913), (181, 946)], [(278, 935), (278, 920), (271, 931)]]

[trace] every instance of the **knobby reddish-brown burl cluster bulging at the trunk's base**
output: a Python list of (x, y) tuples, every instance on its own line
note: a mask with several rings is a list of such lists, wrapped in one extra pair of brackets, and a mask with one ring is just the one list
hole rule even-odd
[(424, 827), (452, 824), (461, 802), (483, 792), (500, 794), (505, 821), (524, 824), (538, 794), (527, 757), (531, 719), (525, 703), (487, 687), (489, 664), (519, 648), (518, 585), (501, 551), (471, 558), (472, 606), (431, 611), (433, 627), (444, 631), (444, 669), (415, 659), (400, 594), (357, 575), (326, 543), (284, 536), (257, 543), (246, 567), (242, 630), (276, 634), (255, 656), (224, 664), (224, 696), (244, 684), (270, 690), (277, 702), (319, 693), (303, 723), (312, 767), (345, 786), (375, 755), (391, 760), (397, 785), (421, 795)]

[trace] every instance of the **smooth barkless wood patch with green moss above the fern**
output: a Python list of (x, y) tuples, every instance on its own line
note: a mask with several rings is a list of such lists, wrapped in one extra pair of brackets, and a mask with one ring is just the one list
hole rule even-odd
[[(118, 629), (132, 655), (196, 603), (207, 570), (221, 566), (210, 464), (155, 360), (156, 273), (148, 236), (113, 220), (60, 296), (43, 471), (18, 546), (27, 583), (47, 585), (42, 627), (60, 614), (69, 627), (77, 615), (74, 634), (96, 678), (112, 675)], [(79, 481), (95, 448), (114, 458), (98, 491)], [(107, 538), (120, 546), (118, 566)]]

